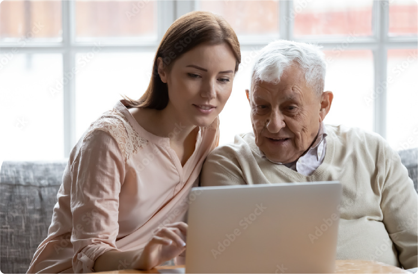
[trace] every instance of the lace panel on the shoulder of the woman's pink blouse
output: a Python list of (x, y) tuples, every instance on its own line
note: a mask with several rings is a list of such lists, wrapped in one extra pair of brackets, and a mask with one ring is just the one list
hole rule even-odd
[(102, 130), (108, 132), (117, 142), (125, 162), (148, 144), (148, 140), (138, 135), (126, 117), (117, 109), (104, 112), (96, 121), (90, 124), (83, 141), (94, 132)]

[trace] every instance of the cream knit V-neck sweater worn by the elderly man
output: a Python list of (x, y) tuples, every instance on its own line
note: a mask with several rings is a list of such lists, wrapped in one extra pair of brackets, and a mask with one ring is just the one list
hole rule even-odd
[(339, 180), (337, 259), (418, 267), (418, 195), (398, 153), (377, 134), (343, 126), (326, 130), (324, 162), (310, 176), (263, 159), (254, 134), (247, 133), (210, 153), (201, 185)]

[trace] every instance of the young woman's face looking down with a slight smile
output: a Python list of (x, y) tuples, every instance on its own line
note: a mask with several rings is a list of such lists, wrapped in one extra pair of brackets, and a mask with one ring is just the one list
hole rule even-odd
[(232, 91), (235, 57), (226, 43), (199, 45), (174, 61), (166, 71), (158, 63), (168, 86), (167, 110), (185, 125), (208, 126), (222, 111)]

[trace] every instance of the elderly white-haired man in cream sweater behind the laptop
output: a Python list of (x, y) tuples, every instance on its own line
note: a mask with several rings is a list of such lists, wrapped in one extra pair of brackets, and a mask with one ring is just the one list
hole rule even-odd
[(339, 180), (337, 259), (418, 267), (412, 180), (379, 135), (324, 124), (333, 99), (324, 91), (325, 70), (317, 46), (279, 40), (263, 48), (246, 91), (253, 132), (237, 135), (207, 157), (201, 185)]

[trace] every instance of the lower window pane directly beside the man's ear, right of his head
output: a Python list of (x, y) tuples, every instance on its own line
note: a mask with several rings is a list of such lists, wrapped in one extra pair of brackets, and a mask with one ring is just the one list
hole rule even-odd
[(371, 51), (324, 51), (325, 90), (334, 94), (326, 124), (343, 124), (373, 130), (374, 89)]

